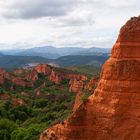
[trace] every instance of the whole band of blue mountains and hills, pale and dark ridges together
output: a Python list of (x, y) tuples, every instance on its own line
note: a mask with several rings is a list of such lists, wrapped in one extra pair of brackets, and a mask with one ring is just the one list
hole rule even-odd
[(47, 63), (58, 67), (96, 66), (101, 67), (110, 54), (107, 48), (55, 48), (37, 47), (26, 50), (0, 52), (0, 67), (13, 69)]

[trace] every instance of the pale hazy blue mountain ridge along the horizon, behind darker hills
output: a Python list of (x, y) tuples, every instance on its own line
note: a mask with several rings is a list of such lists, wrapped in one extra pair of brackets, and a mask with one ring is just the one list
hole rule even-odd
[(108, 55), (110, 53), (109, 48), (80, 48), (80, 47), (64, 47), (56, 48), (53, 46), (35, 47), (24, 50), (6, 50), (1, 51), (5, 55), (17, 55), (17, 56), (41, 56), (48, 59), (56, 59), (61, 56), (67, 55)]

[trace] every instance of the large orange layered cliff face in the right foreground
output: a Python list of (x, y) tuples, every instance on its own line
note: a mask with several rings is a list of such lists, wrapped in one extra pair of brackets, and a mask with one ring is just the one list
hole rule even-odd
[(40, 140), (140, 139), (140, 16), (121, 28), (88, 101)]

